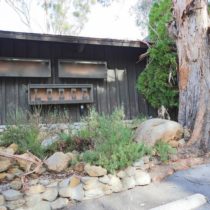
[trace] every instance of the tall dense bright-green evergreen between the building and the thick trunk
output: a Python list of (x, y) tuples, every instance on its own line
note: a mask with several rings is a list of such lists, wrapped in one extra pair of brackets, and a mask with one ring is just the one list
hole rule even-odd
[(171, 5), (171, 0), (160, 0), (151, 8), (149, 37), (153, 44), (146, 69), (137, 81), (137, 89), (154, 108), (178, 106), (177, 53), (167, 30), (167, 23), (172, 18)]

